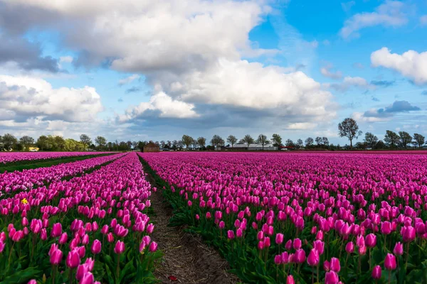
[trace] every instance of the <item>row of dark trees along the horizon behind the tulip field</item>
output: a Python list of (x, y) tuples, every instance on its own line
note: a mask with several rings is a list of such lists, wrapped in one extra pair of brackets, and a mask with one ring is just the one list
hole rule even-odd
[(340, 146), (334, 145), (329, 142), (325, 136), (317, 136), (315, 138), (308, 137), (303, 141), (302, 138), (297, 141), (283, 138), (278, 133), (274, 133), (270, 138), (261, 133), (257, 138), (253, 138), (250, 134), (246, 134), (238, 139), (236, 136), (229, 135), (223, 139), (219, 135), (214, 135), (206, 145), (207, 139), (204, 137), (193, 138), (189, 135), (183, 135), (181, 140), (173, 141), (107, 141), (105, 137), (97, 136), (94, 141), (86, 134), (80, 135), (80, 141), (71, 138), (63, 138), (62, 136), (40, 136), (35, 140), (30, 136), (22, 136), (16, 138), (10, 133), (0, 136), (0, 150), (14, 149), (14, 151), (26, 151), (29, 147), (38, 147), (40, 151), (131, 151), (140, 150), (144, 148), (149, 142), (157, 144), (164, 150), (214, 150), (216, 147), (229, 146), (233, 148), (237, 143), (244, 144), (249, 147), (253, 143), (260, 144), (262, 148), (265, 146), (282, 147), (285, 146), (289, 149), (327, 149), (327, 150), (347, 150), (357, 148), (364, 149), (407, 149), (407, 148), (422, 148), (426, 144), (426, 138), (419, 134), (414, 133), (411, 135), (406, 131), (399, 131), (398, 133), (387, 130), (384, 135), (384, 141), (379, 140), (371, 132), (364, 134), (362, 142), (357, 142), (353, 146), (353, 141), (362, 136), (362, 131), (359, 131), (359, 126), (354, 119), (347, 118), (338, 124), (338, 134), (341, 137), (347, 137), (350, 145), (347, 144)]

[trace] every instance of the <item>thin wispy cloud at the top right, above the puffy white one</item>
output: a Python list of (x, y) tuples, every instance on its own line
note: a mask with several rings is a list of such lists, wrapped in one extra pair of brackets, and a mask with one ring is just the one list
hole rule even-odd
[(371, 26), (403, 26), (408, 22), (401, 1), (385, 1), (371, 13), (357, 13), (344, 23), (339, 35), (342, 38), (358, 37), (358, 31)]

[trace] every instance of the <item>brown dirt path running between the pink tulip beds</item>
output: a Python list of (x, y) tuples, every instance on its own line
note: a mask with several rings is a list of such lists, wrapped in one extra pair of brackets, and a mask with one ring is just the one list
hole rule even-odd
[[(155, 186), (151, 176), (147, 176), (147, 180)], [(154, 222), (152, 239), (164, 252), (154, 275), (162, 283), (239, 283), (235, 275), (226, 272), (228, 263), (218, 252), (202, 244), (199, 237), (185, 233), (183, 228), (167, 226), (172, 208), (160, 190), (153, 192), (150, 200), (155, 213), (150, 218)]]

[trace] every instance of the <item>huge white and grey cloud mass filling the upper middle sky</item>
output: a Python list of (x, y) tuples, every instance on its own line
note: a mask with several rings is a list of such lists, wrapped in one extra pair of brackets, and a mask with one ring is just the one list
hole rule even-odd
[[(78, 53), (75, 64), (102, 63), (117, 71), (144, 74), (153, 95), (149, 102), (142, 102), (120, 116), (123, 123), (155, 118), (201, 121), (201, 116), (218, 114), (235, 118), (228, 116), (231, 109), (245, 109), (246, 114), (251, 114), (249, 117), (262, 114), (265, 119), (270, 117), (275, 121), (280, 116), (292, 124), (304, 125), (325, 121), (336, 114), (332, 94), (297, 68), (286, 70), (242, 60), (248, 55), (256, 57), (277, 51), (262, 50), (249, 40), (249, 32), (271, 11), (268, 1), (16, 0), (6, 3), (10, 11), (30, 7), (38, 13), (53, 14), (55, 25), (38, 18), (29, 21), (31, 26), (44, 25), (60, 31), (63, 45)], [(25, 14), (14, 16), (22, 18)], [(289, 36), (289, 28), (282, 25), (278, 30), (282, 31), (280, 38)], [(316, 40), (309, 43), (294, 38), (288, 49), (285, 41), (280, 40), (284, 54), (289, 52), (293, 56), (301, 50), (305, 55), (306, 50), (314, 50), (318, 45)], [(119, 84), (136, 80), (135, 75)], [(209, 108), (216, 114), (198, 111)]]

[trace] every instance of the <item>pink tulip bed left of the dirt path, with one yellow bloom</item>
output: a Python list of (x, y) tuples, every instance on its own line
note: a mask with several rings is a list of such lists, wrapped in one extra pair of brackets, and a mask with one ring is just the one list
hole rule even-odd
[(0, 175), (0, 283), (152, 283), (151, 190), (135, 153)]

